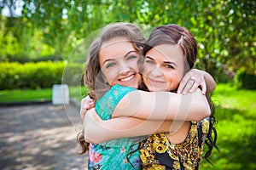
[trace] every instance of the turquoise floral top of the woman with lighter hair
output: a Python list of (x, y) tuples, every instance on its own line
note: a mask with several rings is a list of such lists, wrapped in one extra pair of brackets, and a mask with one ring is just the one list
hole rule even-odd
[[(119, 100), (133, 90), (136, 88), (113, 86), (101, 99), (96, 101), (96, 112), (103, 120), (111, 119)], [(88, 168), (141, 169), (138, 147), (137, 137), (113, 139), (102, 144), (90, 144)], [(129, 155), (128, 160), (126, 156), (133, 150), (136, 151)]]

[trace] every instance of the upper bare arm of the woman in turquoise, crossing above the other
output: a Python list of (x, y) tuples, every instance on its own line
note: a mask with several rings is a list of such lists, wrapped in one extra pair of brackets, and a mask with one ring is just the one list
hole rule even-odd
[(175, 121), (201, 121), (210, 114), (207, 98), (200, 89), (186, 95), (136, 90), (126, 94), (113, 111), (113, 117)]

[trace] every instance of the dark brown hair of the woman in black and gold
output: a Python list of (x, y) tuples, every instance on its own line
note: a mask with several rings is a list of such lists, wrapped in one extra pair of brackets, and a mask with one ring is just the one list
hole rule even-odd
[[(174, 24), (156, 27), (150, 34), (148, 41), (145, 43), (143, 54), (147, 54), (151, 48), (154, 48), (157, 45), (166, 43), (178, 45), (178, 47), (182, 50), (183, 55), (185, 56), (185, 72), (191, 70), (194, 67), (198, 53), (195, 37), (187, 28)], [(214, 127), (214, 124), (216, 123), (214, 116), (215, 106), (213, 105), (209, 94), (207, 94), (207, 100), (211, 108), (211, 115), (209, 116), (209, 131), (207, 133), (207, 139), (205, 140), (205, 144), (207, 144), (208, 150), (204, 158), (209, 161), (208, 158), (212, 154), (213, 147), (215, 147), (217, 150), (218, 147), (216, 144), (217, 131)]]

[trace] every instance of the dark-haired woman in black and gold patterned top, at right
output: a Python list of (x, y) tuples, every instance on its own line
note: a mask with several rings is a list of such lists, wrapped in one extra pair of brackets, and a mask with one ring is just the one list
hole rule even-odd
[[(193, 68), (197, 44), (195, 37), (184, 27), (159, 26), (148, 38), (144, 54), (143, 82), (149, 91), (157, 89), (176, 92), (179, 79), (176, 77), (177, 72), (183, 75)], [(157, 68), (158, 71), (155, 71)], [(160, 80), (171, 83), (166, 88), (156, 82)], [(204, 143), (208, 146), (205, 154), (205, 158), (208, 158), (213, 146), (216, 147), (217, 139), (217, 132), (213, 127), (214, 106), (208, 94), (207, 99), (212, 108), (209, 117), (201, 122), (183, 122), (174, 133), (154, 133), (143, 141), (140, 149), (143, 169), (199, 169)]]

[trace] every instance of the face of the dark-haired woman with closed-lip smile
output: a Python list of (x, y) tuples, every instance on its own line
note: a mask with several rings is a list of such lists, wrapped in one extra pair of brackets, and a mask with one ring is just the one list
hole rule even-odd
[(149, 91), (175, 90), (184, 75), (184, 56), (177, 45), (161, 44), (145, 55), (143, 81)]

